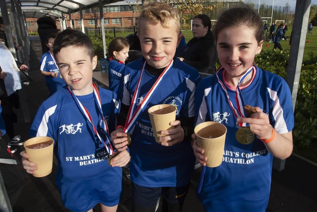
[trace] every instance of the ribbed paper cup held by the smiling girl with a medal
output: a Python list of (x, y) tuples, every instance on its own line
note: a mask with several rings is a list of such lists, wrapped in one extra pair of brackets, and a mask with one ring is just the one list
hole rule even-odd
[(205, 149), (206, 166), (219, 166), (222, 163), (227, 128), (218, 122), (203, 122), (195, 127), (194, 133), (198, 146)]

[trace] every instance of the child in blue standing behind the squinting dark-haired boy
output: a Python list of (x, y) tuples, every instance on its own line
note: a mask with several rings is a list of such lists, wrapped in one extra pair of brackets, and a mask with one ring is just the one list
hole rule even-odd
[(65, 82), (61, 77), (53, 55), (53, 46), (56, 34), (50, 34), (47, 38), (46, 45), (50, 49), (44, 53), (40, 60), (40, 70), (45, 75), (46, 84), (49, 88), (50, 96), (53, 95), (60, 87), (65, 86)]

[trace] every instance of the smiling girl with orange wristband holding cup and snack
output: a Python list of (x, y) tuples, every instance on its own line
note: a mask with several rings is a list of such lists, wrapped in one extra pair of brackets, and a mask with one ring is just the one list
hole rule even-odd
[[(220, 114), (227, 134), (222, 164), (204, 167), (198, 198), (207, 212), (265, 212), (273, 156), (287, 158), (293, 149), (291, 93), (283, 78), (253, 66), (264, 42), (262, 19), (253, 9), (224, 11), (213, 33), (222, 67), (197, 86), (196, 124)], [(256, 113), (246, 118), (244, 105)], [(206, 165), (196, 140), (193, 148)]]

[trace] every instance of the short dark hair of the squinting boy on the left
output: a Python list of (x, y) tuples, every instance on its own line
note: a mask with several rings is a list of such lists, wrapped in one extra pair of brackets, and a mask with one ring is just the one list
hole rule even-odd
[(95, 50), (93, 42), (90, 38), (83, 32), (73, 29), (65, 29), (64, 31), (58, 33), (55, 41), (53, 53), (54, 55), (60, 52), (64, 47), (74, 46), (86, 48), (87, 54), (91, 59), (95, 56)]

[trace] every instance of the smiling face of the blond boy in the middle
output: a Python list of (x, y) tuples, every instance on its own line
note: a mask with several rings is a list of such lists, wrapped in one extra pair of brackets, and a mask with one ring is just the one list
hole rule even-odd
[(142, 53), (154, 68), (166, 67), (175, 55), (179, 32), (174, 20), (168, 22), (169, 28), (164, 28), (160, 23), (153, 25), (139, 20), (138, 35)]

